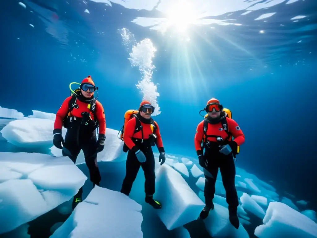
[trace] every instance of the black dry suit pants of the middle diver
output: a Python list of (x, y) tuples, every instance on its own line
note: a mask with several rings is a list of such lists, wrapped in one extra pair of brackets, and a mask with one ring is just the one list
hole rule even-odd
[(121, 193), (124, 193), (127, 196), (131, 191), (132, 184), (137, 177), (140, 166), (143, 169), (145, 177), (145, 194), (153, 195), (155, 193), (155, 160), (153, 151), (150, 146), (142, 148), (141, 151), (146, 157), (146, 162), (144, 163), (140, 163), (135, 153), (128, 150), (128, 156), (126, 158), (126, 177), (123, 180), (121, 188)]

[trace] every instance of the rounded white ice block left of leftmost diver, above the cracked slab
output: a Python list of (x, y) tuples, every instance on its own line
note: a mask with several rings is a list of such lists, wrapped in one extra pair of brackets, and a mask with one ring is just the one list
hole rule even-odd
[(8, 142), (19, 147), (50, 148), (53, 145), (53, 129), (52, 120), (28, 118), (9, 122), (0, 132)]

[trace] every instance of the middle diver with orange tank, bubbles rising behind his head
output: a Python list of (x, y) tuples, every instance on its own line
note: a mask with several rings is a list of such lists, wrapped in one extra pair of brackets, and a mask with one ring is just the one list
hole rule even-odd
[[(153, 199), (155, 193), (155, 160), (152, 146), (156, 144), (159, 149), (161, 165), (165, 162), (165, 150), (159, 126), (151, 117), (154, 109), (150, 102), (143, 101), (138, 111), (129, 110), (126, 112), (126, 125), (124, 125), (122, 131), (124, 131), (123, 151), (128, 152), (128, 155), (126, 158), (126, 176), (120, 192), (129, 196), (132, 184), (141, 166), (145, 176), (145, 202), (155, 209), (160, 209), (161, 204)], [(130, 111), (131, 113), (129, 113)]]

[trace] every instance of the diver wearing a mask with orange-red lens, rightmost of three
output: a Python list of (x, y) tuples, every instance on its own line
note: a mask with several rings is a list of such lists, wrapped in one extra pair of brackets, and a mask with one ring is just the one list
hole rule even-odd
[[(207, 218), (209, 211), (214, 209), (212, 200), (215, 195), (218, 169), (220, 169), (223, 187), (226, 190), (229, 220), (238, 229), (240, 225), (237, 216), (239, 200), (235, 186), (236, 167), (234, 158), (238, 146), (244, 143), (244, 134), (238, 124), (227, 117), (227, 113), (223, 111), (223, 106), (217, 99), (210, 99), (204, 110), (207, 115), (198, 124), (194, 138), (199, 165), (203, 167), (205, 175), (204, 196), (206, 206), (201, 211), (199, 219)], [(232, 137), (234, 137), (234, 140), (232, 140)]]

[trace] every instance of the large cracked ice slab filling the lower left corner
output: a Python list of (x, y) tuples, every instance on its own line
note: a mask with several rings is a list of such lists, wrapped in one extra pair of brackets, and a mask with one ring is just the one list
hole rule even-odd
[[(74, 196), (87, 177), (68, 158), (0, 152), (0, 234), (50, 211)], [(4, 182), (3, 182), (4, 181)]]

